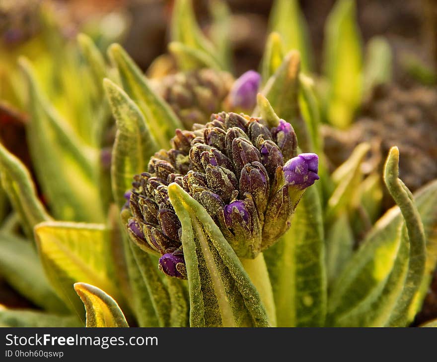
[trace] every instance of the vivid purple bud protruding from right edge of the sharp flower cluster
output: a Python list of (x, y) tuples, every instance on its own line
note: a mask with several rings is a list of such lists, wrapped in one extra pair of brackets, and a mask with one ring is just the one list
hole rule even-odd
[(319, 180), (317, 175), (319, 158), (315, 153), (301, 153), (283, 167), (285, 181), (304, 189)]

